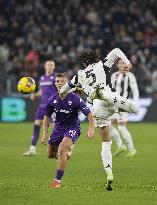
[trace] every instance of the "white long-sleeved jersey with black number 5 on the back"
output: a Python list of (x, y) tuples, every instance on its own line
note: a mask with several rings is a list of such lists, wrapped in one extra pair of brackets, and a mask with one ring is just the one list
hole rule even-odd
[(87, 96), (91, 97), (96, 88), (106, 89), (106, 86), (111, 87), (110, 69), (117, 58), (121, 58), (126, 64), (130, 63), (124, 53), (119, 48), (115, 48), (107, 55), (104, 62), (100, 60), (98, 63), (91, 64), (84, 70), (78, 71), (68, 83), (69, 88), (65, 85), (60, 92), (64, 93), (67, 89), (81, 86)]

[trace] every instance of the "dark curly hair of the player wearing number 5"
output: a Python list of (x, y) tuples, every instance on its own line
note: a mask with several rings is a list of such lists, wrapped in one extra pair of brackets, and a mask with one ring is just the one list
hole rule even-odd
[(83, 50), (78, 55), (80, 63), (86, 66), (100, 61), (100, 49)]

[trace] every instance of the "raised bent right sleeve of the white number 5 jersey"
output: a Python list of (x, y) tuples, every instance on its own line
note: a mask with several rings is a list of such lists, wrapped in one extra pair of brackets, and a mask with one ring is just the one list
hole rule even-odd
[(111, 68), (117, 58), (122, 59), (127, 65), (130, 63), (126, 55), (119, 48), (115, 48), (105, 58), (105, 66)]

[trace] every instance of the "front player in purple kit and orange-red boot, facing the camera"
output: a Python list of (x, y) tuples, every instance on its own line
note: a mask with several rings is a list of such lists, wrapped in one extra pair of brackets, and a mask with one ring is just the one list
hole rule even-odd
[[(68, 79), (65, 73), (56, 75), (55, 84), (58, 93), (61, 87), (67, 82)], [(61, 99), (58, 93), (48, 100), (46, 115), (43, 121), (42, 143), (46, 144), (49, 116), (51, 116), (52, 113), (56, 113), (54, 130), (48, 141), (48, 158), (57, 159), (56, 176), (51, 184), (51, 188), (61, 187), (61, 179), (69, 158), (68, 153), (81, 134), (80, 121), (78, 118), (79, 110), (81, 110), (84, 115), (88, 116), (89, 129), (87, 138), (93, 139), (94, 136), (93, 116), (84, 101), (73, 92), (67, 94), (64, 99)]]

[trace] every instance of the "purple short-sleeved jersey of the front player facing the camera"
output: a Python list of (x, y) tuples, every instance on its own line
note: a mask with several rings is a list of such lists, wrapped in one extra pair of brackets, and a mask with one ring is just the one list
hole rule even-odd
[(79, 110), (86, 116), (91, 112), (84, 101), (76, 94), (69, 93), (64, 100), (56, 94), (48, 100), (46, 115), (51, 116), (52, 113), (56, 114), (56, 128), (80, 127), (80, 120), (78, 118)]

